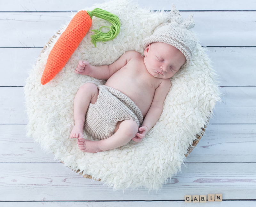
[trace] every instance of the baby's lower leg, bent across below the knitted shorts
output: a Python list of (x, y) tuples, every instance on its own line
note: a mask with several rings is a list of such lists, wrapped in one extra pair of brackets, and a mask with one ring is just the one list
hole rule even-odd
[(120, 123), (115, 134), (107, 139), (91, 141), (83, 138), (77, 140), (78, 147), (84, 152), (100, 152), (126, 145), (138, 132), (138, 125), (133, 120)]

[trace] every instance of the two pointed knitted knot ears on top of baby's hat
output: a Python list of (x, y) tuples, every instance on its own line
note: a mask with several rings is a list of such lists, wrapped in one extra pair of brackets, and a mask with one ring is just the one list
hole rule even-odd
[[(176, 22), (177, 24), (180, 25), (180, 28), (187, 28), (191, 29), (195, 26), (195, 21), (193, 19), (193, 14), (188, 17), (188, 19), (183, 21), (183, 18), (180, 14), (180, 12), (176, 9), (175, 5), (172, 4), (172, 10), (169, 13), (167, 17), (167, 21), (170, 23)], [(175, 23), (174, 23), (175, 24)], [(175, 24), (175, 25), (177, 25)]]

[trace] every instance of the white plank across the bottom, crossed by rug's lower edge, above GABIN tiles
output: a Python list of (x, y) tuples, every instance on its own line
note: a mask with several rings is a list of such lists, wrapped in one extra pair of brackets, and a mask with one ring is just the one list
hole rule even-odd
[(183, 200), (184, 195), (203, 192), (222, 193), (230, 200), (253, 199), (256, 193), (256, 163), (187, 163), (161, 191), (139, 188), (124, 193), (85, 179), (61, 163), (0, 163), (0, 168), (1, 201)]

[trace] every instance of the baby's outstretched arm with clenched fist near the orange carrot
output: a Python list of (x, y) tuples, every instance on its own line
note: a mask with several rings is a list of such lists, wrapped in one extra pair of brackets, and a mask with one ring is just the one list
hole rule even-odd
[(123, 68), (137, 52), (128, 51), (125, 52), (118, 60), (110, 65), (103, 66), (91, 66), (89, 62), (79, 60), (75, 73), (80, 75), (91, 76), (100, 80), (108, 80), (117, 70)]

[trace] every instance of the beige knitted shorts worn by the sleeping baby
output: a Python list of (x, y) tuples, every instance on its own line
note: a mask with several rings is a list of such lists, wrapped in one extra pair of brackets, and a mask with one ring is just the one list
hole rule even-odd
[(132, 119), (142, 124), (143, 115), (135, 103), (122, 92), (106, 85), (98, 86), (97, 101), (89, 104), (85, 115), (85, 130), (96, 139), (107, 139), (114, 134), (119, 121)]

